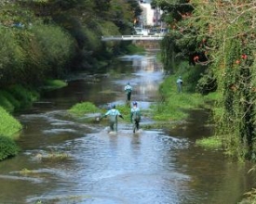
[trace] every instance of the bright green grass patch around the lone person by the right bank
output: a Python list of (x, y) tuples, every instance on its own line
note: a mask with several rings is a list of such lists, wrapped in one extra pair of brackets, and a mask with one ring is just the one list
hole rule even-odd
[[(154, 105), (153, 119), (155, 121), (182, 121), (188, 118), (186, 110), (195, 108), (212, 108), (218, 93), (202, 96), (188, 91), (188, 86), (183, 85), (182, 93), (178, 93), (176, 80), (180, 74), (170, 75), (159, 87), (162, 101)], [(183, 79), (186, 81), (186, 79)], [(185, 84), (185, 83), (184, 83)], [(191, 87), (189, 87), (191, 89)], [(216, 109), (217, 111), (217, 109)], [(221, 111), (219, 111), (221, 113)]]

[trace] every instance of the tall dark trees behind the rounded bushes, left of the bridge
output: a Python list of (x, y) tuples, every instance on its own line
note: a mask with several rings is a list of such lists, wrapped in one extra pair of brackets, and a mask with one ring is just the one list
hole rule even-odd
[[(131, 33), (132, 21), (139, 14), (135, 0), (27, 0), (20, 1), (20, 5), (34, 10), (46, 23), (53, 21), (71, 33), (77, 45), (73, 70), (97, 67), (99, 59), (109, 59), (119, 52), (119, 43), (101, 44), (102, 33), (110, 28), (109, 34)], [(106, 24), (112, 26), (104, 28)]]

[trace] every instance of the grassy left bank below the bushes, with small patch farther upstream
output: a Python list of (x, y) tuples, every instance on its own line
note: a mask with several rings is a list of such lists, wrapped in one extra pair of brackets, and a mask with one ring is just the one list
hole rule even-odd
[[(60, 88), (66, 84), (59, 80), (48, 80), (42, 90)], [(31, 106), (38, 97), (37, 91), (21, 85), (0, 90), (0, 160), (15, 156), (19, 152), (15, 139), (19, 137), (22, 125), (11, 113)]]

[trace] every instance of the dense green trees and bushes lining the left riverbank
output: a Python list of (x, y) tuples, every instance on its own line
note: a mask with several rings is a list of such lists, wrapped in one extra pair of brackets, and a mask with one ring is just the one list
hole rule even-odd
[[(141, 14), (136, 0), (1, 0), (0, 7), (0, 135), (10, 138), (21, 126), (8, 113), (36, 100), (42, 87), (64, 85), (56, 80), (66, 74), (99, 71), (131, 50), (102, 43), (101, 35), (131, 33)], [(0, 160), (17, 153), (11, 149), (1, 147)]]

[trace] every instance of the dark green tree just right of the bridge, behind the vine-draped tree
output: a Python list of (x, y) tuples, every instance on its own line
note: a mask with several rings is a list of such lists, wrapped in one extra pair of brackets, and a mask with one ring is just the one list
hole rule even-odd
[(216, 90), (216, 79), (208, 69), (207, 37), (191, 21), (194, 20), (192, 17), (195, 7), (188, 0), (154, 0), (152, 6), (163, 10), (162, 19), (168, 26), (168, 34), (161, 42), (164, 68), (173, 73), (183, 67), (182, 61), (188, 61), (189, 66), (195, 66), (196, 69), (194, 71), (186, 66), (187, 72), (190, 72), (188, 75), (194, 75), (186, 79), (187, 84), (191, 84), (188, 90), (195, 91), (196, 87), (202, 94)]

